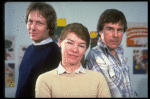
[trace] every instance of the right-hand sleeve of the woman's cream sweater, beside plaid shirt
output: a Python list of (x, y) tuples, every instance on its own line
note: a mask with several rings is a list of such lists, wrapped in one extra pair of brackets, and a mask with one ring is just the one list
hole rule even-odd
[(99, 86), (98, 86), (98, 97), (100, 98), (110, 98), (110, 91), (107, 85), (107, 81), (102, 74), (99, 76)]

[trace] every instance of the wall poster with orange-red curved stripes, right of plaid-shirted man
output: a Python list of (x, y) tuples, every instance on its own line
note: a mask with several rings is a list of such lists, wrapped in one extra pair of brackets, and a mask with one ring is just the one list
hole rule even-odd
[(127, 23), (127, 47), (148, 47), (148, 25), (144, 22)]

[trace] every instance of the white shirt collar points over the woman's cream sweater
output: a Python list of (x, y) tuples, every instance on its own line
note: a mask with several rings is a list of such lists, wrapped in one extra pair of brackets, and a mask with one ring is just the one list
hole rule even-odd
[[(59, 66), (58, 66), (58, 74), (63, 74), (63, 73), (69, 73), (68, 71), (66, 71), (66, 69), (61, 65), (61, 62), (59, 63)], [(84, 68), (82, 67), (82, 65), (80, 65), (80, 67), (75, 70), (74, 73), (86, 73)]]

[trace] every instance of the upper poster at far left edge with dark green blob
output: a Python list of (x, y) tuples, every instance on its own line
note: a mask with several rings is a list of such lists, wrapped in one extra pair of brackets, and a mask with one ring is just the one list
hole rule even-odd
[(15, 36), (5, 37), (5, 60), (15, 60)]

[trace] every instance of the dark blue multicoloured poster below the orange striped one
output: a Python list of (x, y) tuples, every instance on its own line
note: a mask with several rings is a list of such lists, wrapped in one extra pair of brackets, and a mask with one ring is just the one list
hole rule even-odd
[(148, 50), (133, 50), (133, 74), (148, 74)]

